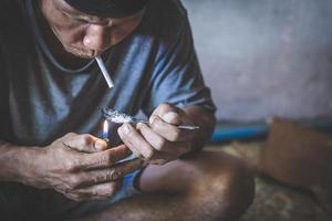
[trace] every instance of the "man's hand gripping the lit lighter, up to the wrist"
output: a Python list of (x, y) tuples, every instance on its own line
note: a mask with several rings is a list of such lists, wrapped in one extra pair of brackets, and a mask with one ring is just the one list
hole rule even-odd
[(75, 201), (106, 199), (121, 189), (124, 176), (143, 165), (141, 159), (118, 162), (132, 154), (125, 145), (106, 148), (91, 135), (68, 134), (41, 148), (25, 182)]

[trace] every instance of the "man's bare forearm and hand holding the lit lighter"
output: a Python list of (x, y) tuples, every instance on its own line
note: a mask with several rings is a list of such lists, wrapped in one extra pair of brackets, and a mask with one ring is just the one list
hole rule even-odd
[(118, 162), (131, 155), (124, 145), (106, 148), (104, 140), (76, 134), (43, 148), (0, 141), (0, 182), (54, 189), (76, 201), (106, 199), (121, 189), (125, 175), (143, 164), (141, 159)]

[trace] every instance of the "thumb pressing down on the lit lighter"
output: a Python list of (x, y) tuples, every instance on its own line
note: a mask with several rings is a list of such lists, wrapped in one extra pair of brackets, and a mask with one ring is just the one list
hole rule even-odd
[(92, 135), (76, 135), (66, 137), (62, 143), (71, 149), (84, 152), (97, 152), (107, 148), (107, 143)]

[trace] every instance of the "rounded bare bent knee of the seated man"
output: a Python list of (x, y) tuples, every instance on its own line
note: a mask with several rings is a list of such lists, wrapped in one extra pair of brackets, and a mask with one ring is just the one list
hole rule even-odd
[(206, 162), (208, 166), (205, 165), (207, 173), (199, 182), (200, 197), (210, 202), (206, 207), (215, 212), (217, 220), (238, 219), (255, 197), (252, 172), (240, 159), (229, 155), (217, 154), (212, 158), (212, 161)]

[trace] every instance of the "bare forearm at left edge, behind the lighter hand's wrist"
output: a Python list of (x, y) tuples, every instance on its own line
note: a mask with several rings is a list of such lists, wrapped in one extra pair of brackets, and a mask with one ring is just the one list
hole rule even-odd
[(38, 148), (20, 147), (0, 140), (0, 181), (27, 183)]

